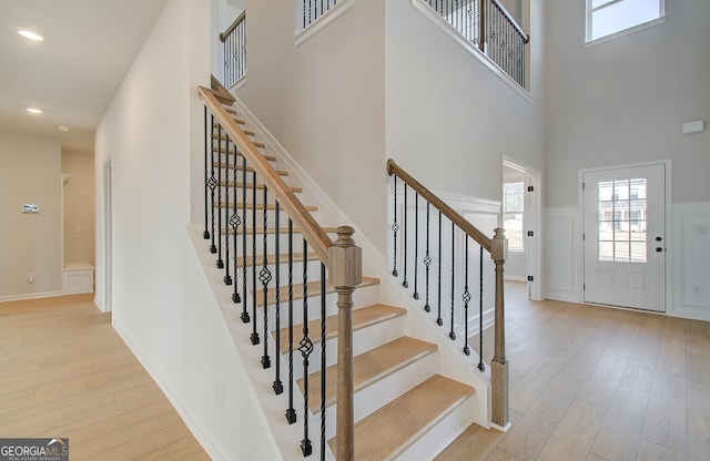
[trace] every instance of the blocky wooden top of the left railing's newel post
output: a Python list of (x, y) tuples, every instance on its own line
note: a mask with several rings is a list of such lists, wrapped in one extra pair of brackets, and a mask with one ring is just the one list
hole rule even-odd
[(337, 228), (337, 239), (328, 248), (329, 277), (335, 287), (356, 287), (363, 281), (363, 250), (355, 246), (355, 229), (351, 226)]

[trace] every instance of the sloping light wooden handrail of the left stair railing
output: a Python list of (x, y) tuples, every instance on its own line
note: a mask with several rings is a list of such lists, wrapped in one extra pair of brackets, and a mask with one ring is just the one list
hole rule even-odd
[(301, 233), (318, 255), (318, 258), (326, 267), (329, 267), (328, 249), (333, 246), (333, 240), (331, 240), (328, 235), (321, 228), (313, 216), (311, 216), (311, 213), (306, 211), (305, 206), (303, 206), (301, 201), (291, 191), (291, 187), (283, 182), (268, 164), (268, 161), (256, 150), (256, 146), (248, 136), (246, 136), (236, 122), (232, 120), (230, 114), (214, 96), (212, 90), (200, 86), (199, 92), (202, 101), (220, 125), (222, 125), (222, 129), (227, 133), (230, 140), (240, 147), (250, 165), (263, 178), (268, 191), (276, 197), (276, 201), (284, 208), (288, 217), (301, 229)]

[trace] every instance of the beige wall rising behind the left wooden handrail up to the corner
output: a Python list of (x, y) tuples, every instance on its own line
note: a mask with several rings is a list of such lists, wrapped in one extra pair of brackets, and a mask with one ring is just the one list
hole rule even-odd
[(294, 1), (247, 0), (248, 70), (237, 94), (384, 253), (383, 3), (357, 0), (296, 47)]

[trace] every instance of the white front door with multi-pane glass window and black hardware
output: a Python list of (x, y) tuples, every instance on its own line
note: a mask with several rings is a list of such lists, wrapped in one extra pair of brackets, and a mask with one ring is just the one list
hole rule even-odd
[(666, 165), (586, 172), (585, 303), (666, 310)]

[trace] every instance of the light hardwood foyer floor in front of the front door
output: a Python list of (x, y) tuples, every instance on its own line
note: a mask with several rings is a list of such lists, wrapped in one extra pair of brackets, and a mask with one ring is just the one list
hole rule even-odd
[(710, 324), (506, 285), (513, 427), (471, 427), (438, 461), (710, 460)]

